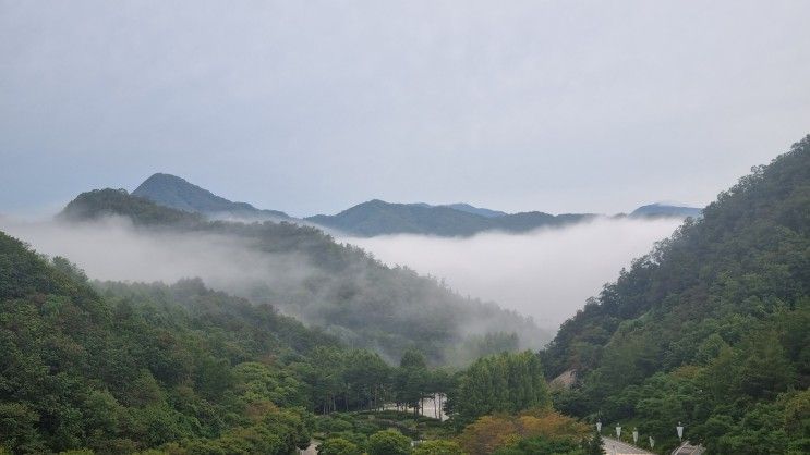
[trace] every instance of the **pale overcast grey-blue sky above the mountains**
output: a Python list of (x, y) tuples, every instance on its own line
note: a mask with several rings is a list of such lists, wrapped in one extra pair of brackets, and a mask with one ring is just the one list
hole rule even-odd
[(810, 133), (810, 1), (0, 0), (0, 212), (154, 172), (371, 198), (703, 205)]

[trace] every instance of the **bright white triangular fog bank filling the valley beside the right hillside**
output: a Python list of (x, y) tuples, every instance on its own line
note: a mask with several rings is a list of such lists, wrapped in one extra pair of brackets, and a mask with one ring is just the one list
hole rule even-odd
[(597, 219), (527, 234), (468, 238), (392, 235), (343, 238), (388, 265), (444, 279), (462, 294), (497, 302), (556, 328), (618, 278), (622, 267), (669, 236), (678, 219)]

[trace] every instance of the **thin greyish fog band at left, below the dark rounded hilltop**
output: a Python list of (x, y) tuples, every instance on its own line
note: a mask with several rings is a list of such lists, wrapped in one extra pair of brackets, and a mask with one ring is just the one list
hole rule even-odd
[(40, 254), (68, 258), (94, 280), (172, 283), (201, 278), (214, 288), (234, 292), (258, 283), (300, 281), (312, 273), (299, 255), (268, 255), (227, 235), (145, 235), (125, 218), (73, 224), (0, 217), (0, 230)]

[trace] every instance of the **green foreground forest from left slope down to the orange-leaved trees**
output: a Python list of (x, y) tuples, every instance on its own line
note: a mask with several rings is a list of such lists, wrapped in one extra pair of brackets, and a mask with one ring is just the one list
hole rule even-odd
[[(0, 347), (0, 454), (290, 455), (317, 438), (322, 455), (515, 444), (505, 453), (536, 455), (588, 443), (549, 408), (534, 353), (454, 372), (408, 351), (391, 366), (198, 280), (89, 283), (2, 233)], [(450, 396), (450, 421), (418, 416), (436, 394)]]

